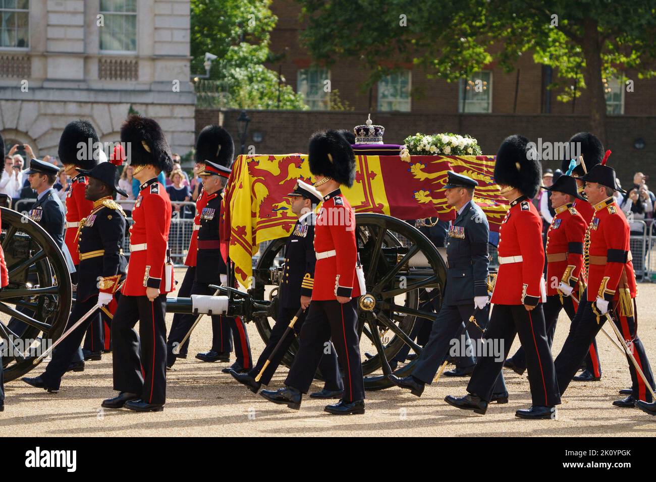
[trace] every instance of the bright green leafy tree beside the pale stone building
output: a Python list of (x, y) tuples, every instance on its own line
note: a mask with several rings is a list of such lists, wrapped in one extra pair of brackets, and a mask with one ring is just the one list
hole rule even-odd
[(304, 109), (302, 95), (264, 67), (274, 61), (270, 31), (277, 18), (271, 0), (192, 0), (192, 75), (205, 71), (205, 52), (218, 58), (209, 79), (195, 81), (199, 106)]

